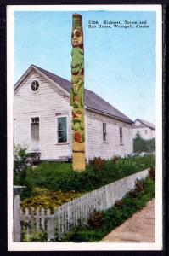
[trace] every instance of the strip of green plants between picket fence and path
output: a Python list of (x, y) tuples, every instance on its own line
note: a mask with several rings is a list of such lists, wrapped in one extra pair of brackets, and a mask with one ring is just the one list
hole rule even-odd
[[(148, 201), (155, 197), (155, 172), (149, 172), (149, 177), (144, 180), (137, 180), (135, 188), (130, 190), (121, 200), (115, 201), (113, 207), (107, 210), (95, 210), (87, 218), (85, 226), (78, 225), (77, 228), (70, 229), (64, 236), (58, 236), (57, 229), (53, 236), (48, 234), (48, 230), (34, 231), (27, 240), (26, 233), (23, 241), (70, 241), (70, 242), (94, 242), (101, 241), (104, 236), (122, 224), (132, 214), (142, 209)], [(31, 217), (31, 216), (30, 216)], [(48, 226), (48, 224), (47, 224)], [(53, 239), (50, 240), (50, 237)], [(49, 240), (48, 240), (49, 239)]]

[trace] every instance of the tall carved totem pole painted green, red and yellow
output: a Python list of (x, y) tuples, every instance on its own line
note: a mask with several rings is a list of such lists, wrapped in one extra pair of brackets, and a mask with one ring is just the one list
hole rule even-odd
[(70, 106), (72, 106), (71, 129), (73, 130), (73, 170), (85, 170), (85, 131), (84, 131), (84, 52), (82, 16), (73, 15), (72, 23), (72, 61)]

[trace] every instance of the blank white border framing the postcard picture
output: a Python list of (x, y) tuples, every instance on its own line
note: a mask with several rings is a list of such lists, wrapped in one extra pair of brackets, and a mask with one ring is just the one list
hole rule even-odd
[[(155, 243), (14, 242), (13, 232), (13, 91), (14, 11), (155, 11), (156, 12), (156, 169), (162, 170), (162, 7), (161, 5), (8, 5), (7, 6), (7, 115), (8, 115), (8, 251), (107, 251), (162, 249), (162, 171), (156, 172)], [(157, 104), (158, 102), (158, 104)], [(132, 246), (131, 246), (132, 245)]]

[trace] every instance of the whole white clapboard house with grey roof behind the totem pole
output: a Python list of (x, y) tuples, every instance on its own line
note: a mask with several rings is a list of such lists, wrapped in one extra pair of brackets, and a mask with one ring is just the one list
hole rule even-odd
[[(41, 160), (72, 155), (70, 81), (31, 65), (14, 85), (14, 144)], [(86, 159), (132, 153), (132, 120), (85, 89)]]

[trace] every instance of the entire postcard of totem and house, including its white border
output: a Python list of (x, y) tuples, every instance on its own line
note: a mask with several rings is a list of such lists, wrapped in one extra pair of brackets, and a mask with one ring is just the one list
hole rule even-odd
[(161, 17), (8, 5), (9, 251), (162, 249)]

